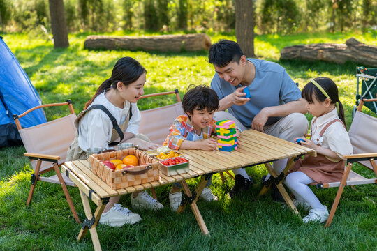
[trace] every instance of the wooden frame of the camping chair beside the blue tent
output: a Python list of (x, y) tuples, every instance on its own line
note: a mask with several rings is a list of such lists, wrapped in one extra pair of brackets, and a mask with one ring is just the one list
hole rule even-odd
[[(23, 114), (20, 114), (20, 115), (14, 114), (13, 119), (15, 120), (15, 124), (17, 126), (17, 129), (21, 130), (22, 126), (20, 124), (19, 119), (22, 118), (23, 116), (25, 116), (26, 114), (28, 114), (29, 112), (32, 112), (35, 109), (39, 109), (39, 108), (43, 108), (43, 107), (54, 107), (54, 106), (63, 106), (63, 105), (68, 105), (71, 114), (75, 114), (75, 110), (73, 109), (73, 105), (72, 105), (71, 100), (67, 100), (66, 102), (62, 102), (62, 103), (38, 105), (36, 107), (28, 109)], [(57, 174), (61, 188), (63, 189), (64, 195), (66, 196), (66, 199), (68, 201), (68, 205), (71, 208), (71, 211), (73, 213), (73, 218), (75, 218), (75, 221), (77, 223), (81, 224), (81, 221), (80, 221), (80, 218), (77, 215), (75, 206), (73, 206), (71, 195), (69, 195), (68, 188), (66, 186), (66, 182), (64, 181), (64, 178), (61, 175), (61, 172), (59, 170), (59, 166), (61, 164), (60, 165), (58, 164), (58, 160), (60, 160), (60, 156), (45, 155), (45, 154), (38, 154), (38, 153), (24, 153), (24, 156), (27, 156), (29, 158), (29, 160), (37, 160), (36, 169), (34, 170), (34, 174), (31, 174), (31, 188), (30, 188), (30, 191), (29, 191), (29, 196), (27, 198), (27, 206), (29, 206), (31, 199), (33, 198), (34, 190), (36, 188), (36, 183), (37, 183), (37, 181), (40, 181), (40, 175), (45, 174), (46, 172), (54, 171)], [(40, 170), (40, 165), (42, 164), (43, 161), (51, 162), (52, 167)]]

